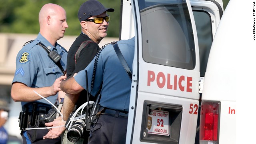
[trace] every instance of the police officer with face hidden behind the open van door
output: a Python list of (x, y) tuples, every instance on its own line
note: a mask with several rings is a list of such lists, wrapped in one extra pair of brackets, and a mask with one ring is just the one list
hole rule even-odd
[[(132, 69), (134, 58), (134, 38), (117, 42), (128, 66)], [(88, 83), (91, 83), (94, 60), (86, 67)], [(68, 94), (77, 94), (86, 89), (85, 70), (64, 80), (60, 88)], [(88, 144), (124, 144), (130, 102), (131, 80), (116, 55), (112, 44), (107, 45), (99, 55), (94, 86), (89, 92), (96, 95), (100, 86), (100, 110), (96, 124), (91, 124)]]

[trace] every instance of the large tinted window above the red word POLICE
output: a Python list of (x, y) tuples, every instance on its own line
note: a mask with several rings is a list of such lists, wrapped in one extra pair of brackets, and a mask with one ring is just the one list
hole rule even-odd
[(186, 1), (139, 1), (145, 62), (192, 70), (195, 44)]

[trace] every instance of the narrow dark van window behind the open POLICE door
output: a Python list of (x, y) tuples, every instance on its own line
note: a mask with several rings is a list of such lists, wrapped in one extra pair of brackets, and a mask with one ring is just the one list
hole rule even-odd
[(193, 10), (200, 55), (200, 76), (204, 77), (212, 46), (212, 20), (205, 11)]

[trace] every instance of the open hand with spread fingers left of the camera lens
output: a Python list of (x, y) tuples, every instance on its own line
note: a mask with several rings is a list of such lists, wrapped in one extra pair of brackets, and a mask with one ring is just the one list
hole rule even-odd
[(43, 136), (43, 139), (58, 138), (62, 134), (62, 132), (65, 131), (65, 122), (62, 121), (61, 117), (56, 118), (53, 122), (45, 123), (45, 126), (48, 126), (48, 127), (60, 126), (60, 127), (51, 128), (49, 132), (45, 136)]

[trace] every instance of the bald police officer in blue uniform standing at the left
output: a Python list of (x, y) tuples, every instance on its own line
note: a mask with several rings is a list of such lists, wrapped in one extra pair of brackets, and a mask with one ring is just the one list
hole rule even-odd
[[(23, 143), (55, 144), (60, 143), (60, 138), (43, 140), (47, 129), (26, 128), (40, 127), (40, 117), (47, 114), (51, 108), (51, 105), (34, 91), (55, 103), (60, 91), (60, 82), (66, 78), (62, 75), (66, 69), (67, 51), (56, 42), (64, 36), (68, 28), (66, 11), (56, 4), (45, 4), (39, 12), (39, 24), (40, 32), (37, 38), (26, 44), (16, 57), (11, 96), (15, 102), (21, 102), (22, 105), (20, 125)], [(46, 46), (46, 50), (40, 44)], [(61, 56), (59, 64), (50, 59), (47, 49)]]

